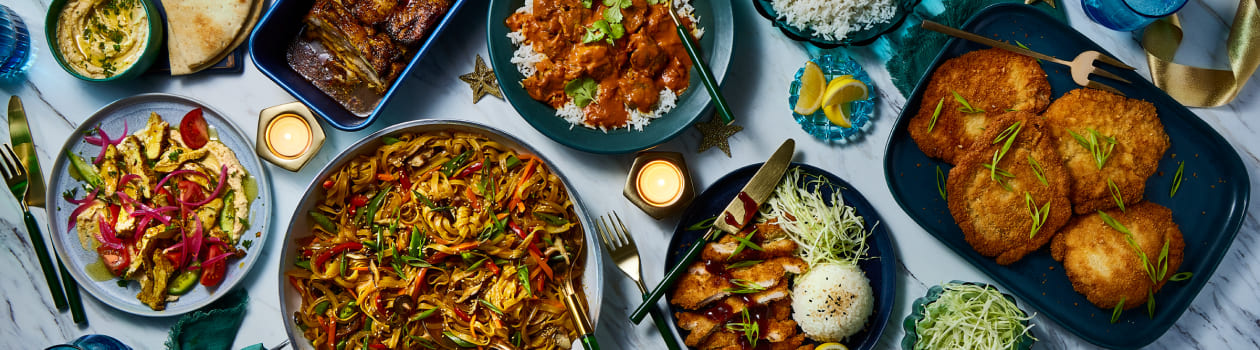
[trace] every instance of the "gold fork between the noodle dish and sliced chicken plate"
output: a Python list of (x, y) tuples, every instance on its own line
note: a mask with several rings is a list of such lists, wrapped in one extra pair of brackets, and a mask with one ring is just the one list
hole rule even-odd
[[(607, 220), (604, 219), (605, 217)], [(634, 281), (635, 286), (639, 287), (639, 293), (648, 298), (648, 287), (643, 285), (643, 264), (639, 262), (639, 248), (634, 244), (634, 237), (630, 235), (630, 230), (626, 229), (626, 224), (621, 222), (621, 217), (616, 212), (605, 217), (600, 217), (600, 224), (595, 227), (595, 230), (600, 233), (600, 240), (604, 242), (604, 249), (609, 251), (609, 256), (621, 268), (621, 273)], [(616, 219), (616, 224), (612, 224), (614, 219)], [(656, 330), (660, 331), (660, 337), (665, 340), (665, 346), (669, 346), (669, 350), (678, 350), (678, 344), (673, 339), (674, 334), (665, 325), (665, 315), (656, 307), (651, 307), (649, 312), (656, 324)]]

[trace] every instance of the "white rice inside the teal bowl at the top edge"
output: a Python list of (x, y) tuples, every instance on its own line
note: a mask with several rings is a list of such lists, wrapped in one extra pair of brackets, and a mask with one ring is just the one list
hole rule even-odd
[(779, 19), (791, 26), (810, 29), (828, 40), (843, 40), (849, 33), (892, 20), (893, 0), (772, 0)]

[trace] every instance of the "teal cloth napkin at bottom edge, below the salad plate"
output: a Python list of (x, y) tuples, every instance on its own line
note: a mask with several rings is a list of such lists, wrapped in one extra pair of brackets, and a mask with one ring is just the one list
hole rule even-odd
[[(249, 293), (239, 288), (200, 310), (184, 315), (170, 327), (166, 350), (232, 349), (248, 305)], [(255, 346), (246, 349), (262, 349), (262, 344)]]

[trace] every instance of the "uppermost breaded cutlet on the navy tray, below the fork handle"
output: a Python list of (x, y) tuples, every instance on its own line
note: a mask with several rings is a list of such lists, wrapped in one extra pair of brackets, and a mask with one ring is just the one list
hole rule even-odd
[[(1008, 110), (1040, 113), (1050, 104), (1050, 93), (1036, 59), (1002, 49), (969, 52), (932, 73), (919, 112), (910, 120), (910, 136), (927, 156), (954, 164), (983, 136), (988, 117)], [(940, 115), (932, 121), (937, 103)]]

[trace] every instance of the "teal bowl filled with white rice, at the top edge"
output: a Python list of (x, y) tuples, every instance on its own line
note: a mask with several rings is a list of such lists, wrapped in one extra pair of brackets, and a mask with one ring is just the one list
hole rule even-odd
[(815, 47), (867, 45), (906, 20), (920, 0), (752, 0), (788, 38)]

